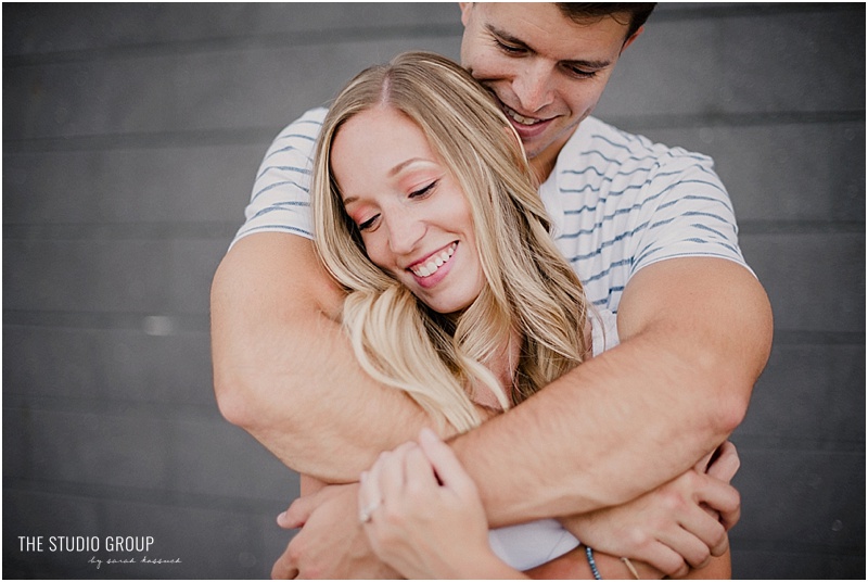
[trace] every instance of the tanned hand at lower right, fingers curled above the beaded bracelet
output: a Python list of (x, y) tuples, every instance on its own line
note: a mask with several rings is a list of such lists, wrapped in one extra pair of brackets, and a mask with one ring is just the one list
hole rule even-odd
[(727, 531), (740, 516), (739, 493), (729, 484), (739, 467), (736, 447), (725, 443), (715, 454), (627, 504), (561, 521), (597, 551), (686, 575), (689, 567), (702, 568), (726, 553)]

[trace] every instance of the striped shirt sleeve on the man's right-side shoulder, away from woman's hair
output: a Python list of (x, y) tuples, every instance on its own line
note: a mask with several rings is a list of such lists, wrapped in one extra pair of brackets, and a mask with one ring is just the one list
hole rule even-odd
[(732, 203), (710, 157), (680, 151), (658, 164), (644, 186), (630, 276), (659, 261), (713, 256), (750, 270)]

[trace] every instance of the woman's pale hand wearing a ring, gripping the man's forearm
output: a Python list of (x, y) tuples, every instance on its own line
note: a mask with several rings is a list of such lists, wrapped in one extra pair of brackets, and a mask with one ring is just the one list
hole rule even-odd
[(359, 519), (378, 557), (406, 578), (521, 575), (492, 552), (475, 483), (430, 430), (362, 473)]

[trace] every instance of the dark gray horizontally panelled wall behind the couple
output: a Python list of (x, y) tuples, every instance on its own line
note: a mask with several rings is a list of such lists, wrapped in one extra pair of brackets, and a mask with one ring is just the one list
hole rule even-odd
[[(212, 275), (283, 125), (460, 33), (451, 3), (3, 4), (5, 578), (268, 575), (297, 480), (217, 412)], [(716, 159), (775, 307), (736, 577), (864, 579), (865, 7), (664, 4), (598, 115)], [(181, 564), (88, 564), (139, 559), (116, 535)]]

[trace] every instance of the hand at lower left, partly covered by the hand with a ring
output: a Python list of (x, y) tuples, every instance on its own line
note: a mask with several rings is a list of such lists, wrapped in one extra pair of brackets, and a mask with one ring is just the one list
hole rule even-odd
[(278, 524), (302, 531), (275, 562), (276, 580), (397, 578), (368, 545), (358, 520), (358, 483), (329, 485), (297, 498)]

